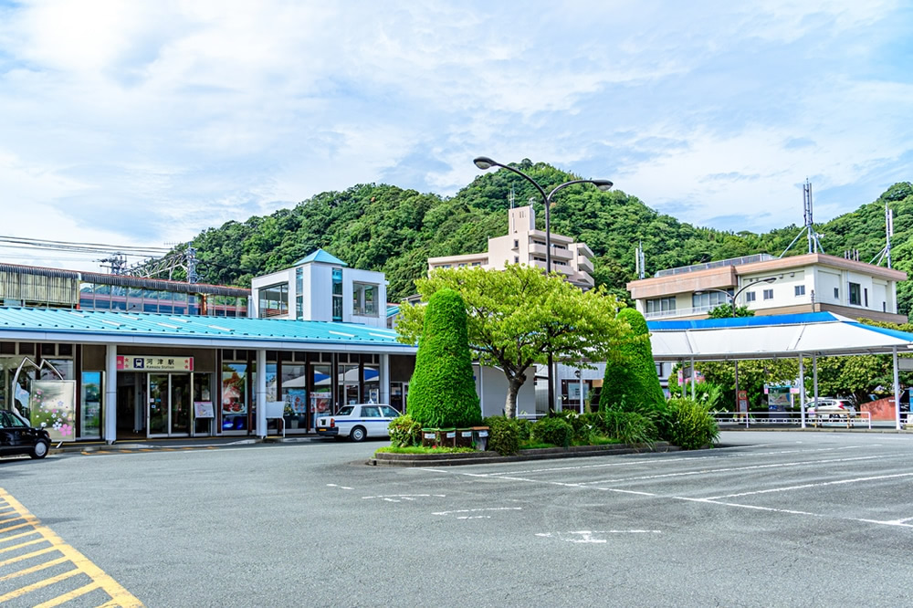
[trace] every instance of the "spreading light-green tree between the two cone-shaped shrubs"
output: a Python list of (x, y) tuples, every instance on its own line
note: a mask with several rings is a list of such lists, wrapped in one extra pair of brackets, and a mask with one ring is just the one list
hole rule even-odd
[[(497, 365), (507, 378), (508, 417), (516, 416), (517, 393), (527, 372), (546, 362), (550, 349), (557, 362), (605, 361), (614, 357), (614, 346), (626, 330), (615, 319), (618, 302), (613, 296), (602, 289), (583, 292), (537, 267), (437, 269), (415, 285), (424, 301), (444, 288), (463, 297), (470, 348), (480, 362)], [(415, 343), (426, 314), (425, 306), (402, 306), (396, 324), (401, 341)], [(410, 396), (412, 390), (410, 386)]]

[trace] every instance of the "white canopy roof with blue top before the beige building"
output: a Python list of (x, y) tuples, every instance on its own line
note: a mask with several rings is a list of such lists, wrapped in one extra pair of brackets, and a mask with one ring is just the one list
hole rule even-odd
[(913, 353), (913, 333), (832, 312), (648, 321), (656, 361), (737, 361), (804, 356)]

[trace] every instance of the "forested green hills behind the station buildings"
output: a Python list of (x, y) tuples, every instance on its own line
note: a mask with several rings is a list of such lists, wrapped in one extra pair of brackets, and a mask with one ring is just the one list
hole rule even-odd
[[(524, 160), (518, 166), (548, 191), (578, 179), (548, 164)], [(394, 185), (362, 184), (328, 192), (246, 222), (228, 222), (205, 230), (193, 240), (200, 259), (201, 281), (249, 286), (250, 278), (289, 267), (322, 247), (351, 267), (383, 270), (390, 282), (388, 298), (414, 293), (413, 281), (427, 272), (427, 258), (485, 251), (489, 236), (507, 234), (509, 195), (517, 204), (535, 198), (536, 221), (544, 229), (539, 194), (514, 173), (479, 175), (452, 198), (420, 194)], [(778, 256), (798, 235), (789, 225), (766, 234), (698, 228), (661, 215), (635, 196), (619, 190), (602, 193), (592, 185), (571, 186), (556, 196), (551, 229), (573, 236), (593, 249), (596, 283), (627, 299), (624, 284), (635, 278), (635, 246), (643, 241), (647, 276), (657, 269), (726, 257), (770, 253)], [(868, 262), (885, 244), (884, 204), (894, 209), (893, 266), (911, 272), (913, 262), (913, 186), (896, 183), (879, 199), (841, 215), (817, 231), (832, 255), (858, 249)], [(798, 204), (797, 204), (798, 207)], [(746, 226), (749, 228), (750, 226)], [(787, 255), (803, 253), (803, 243)], [(913, 281), (908, 281), (913, 283)], [(901, 311), (907, 312), (913, 288), (899, 288)]]

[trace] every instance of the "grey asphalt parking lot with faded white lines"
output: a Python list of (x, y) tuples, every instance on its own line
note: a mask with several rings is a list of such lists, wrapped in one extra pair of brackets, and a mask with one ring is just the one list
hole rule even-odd
[(722, 439), (439, 469), (363, 466), (376, 442), (76, 454), (0, 487), (150, 606), (908, 605), (913, 436)]

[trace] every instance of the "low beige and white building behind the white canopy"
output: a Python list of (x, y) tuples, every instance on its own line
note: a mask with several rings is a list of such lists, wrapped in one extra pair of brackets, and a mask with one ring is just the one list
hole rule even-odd
[(758, 254), (660, 270), (627, 289), (646, 320), (705, 319), (735, 296), (756, 315), (829, 311), (906, 323), (897, 314), (897, 281), (906, 279), (900, 270), (844, 257)]

